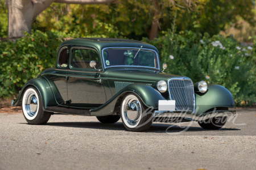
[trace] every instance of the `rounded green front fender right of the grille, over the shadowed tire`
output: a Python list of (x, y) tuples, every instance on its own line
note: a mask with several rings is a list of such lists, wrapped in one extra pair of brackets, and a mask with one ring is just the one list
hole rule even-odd
[(234, 99), (225, 87), (208, 84), (205, 94), (196, 94), (196, 114), (202, 114), (215, 107), (234, 108)]

